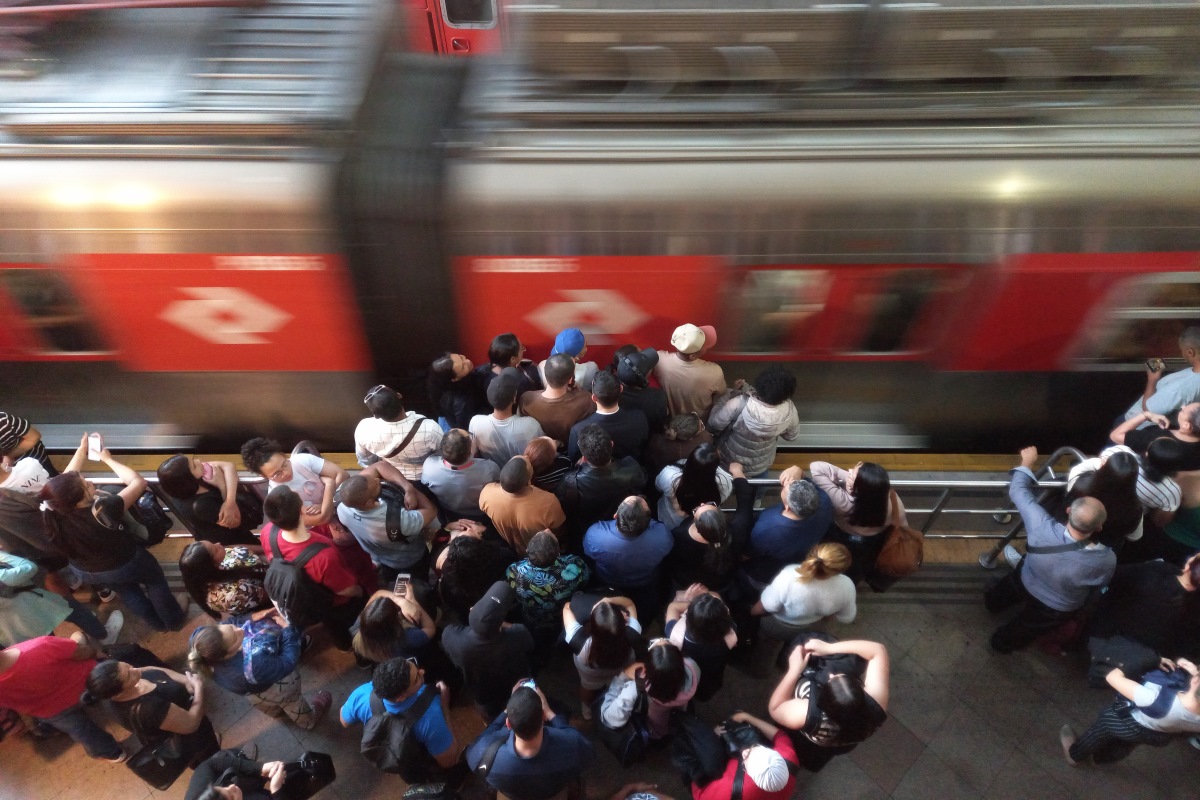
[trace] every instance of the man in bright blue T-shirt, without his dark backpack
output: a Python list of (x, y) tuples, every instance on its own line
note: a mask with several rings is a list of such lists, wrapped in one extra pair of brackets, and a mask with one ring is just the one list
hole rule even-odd
[(403, 714), (416, 704), (425, 692), (440, 692), (442, 698), (431, 703), (421, 718), (416, 721), (413, 734), (425, 745), (432, 760), (442, 769), (450, 769), (458, 760), (458, 746), (454, 730), (446, 723), (450, 714), (450, 690), (442, 681), (436, 687), (425, 685), (425, 670), (419, 669), (412, 658), (392, 658), (376, 667), (370, 684), (362, 684), (346, 698), (342, 705), (342, 727), (349, 728), (356, 722), (366, 724), (371, 720), (371, 692), (374, 691), (383, 700), (383, 708), (389, 714)]

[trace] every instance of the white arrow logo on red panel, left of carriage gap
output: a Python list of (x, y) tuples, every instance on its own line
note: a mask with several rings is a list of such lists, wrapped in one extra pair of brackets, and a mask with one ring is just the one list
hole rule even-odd
[(266, 344), (259, 333), (283, 327), (292, 314), (234, 287), (180, 287), (193, 300), (176, 300), (160, 314), (215, 344)]

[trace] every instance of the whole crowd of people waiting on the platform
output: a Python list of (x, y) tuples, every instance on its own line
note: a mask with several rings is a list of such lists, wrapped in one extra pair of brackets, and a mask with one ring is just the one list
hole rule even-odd
[[(511, 333), (479, 367), (444, 354), (430, 371), (436, 415), (386, 385), (366, 393), (354, 475), (310, 441), (245, 443), (264, 495), (239, 483), (236, 464), (168, 458), (160, 488), (196, 537), (179, 560), (184, 597), (146, 549), (145, 481), (101, 449), (120, 485), (97, 491), (79, 474), (86, 435), (58, 474), (36, 431), (4, 415), (0, 706), (124, 762), (131, 753), (80, 708), (106, 703), (144, 745), (173, 742), (196, 769), (188, 798), (233, 796), (217, 784), (239, 780), (265, 796), (289, 768), (220, 750), (206, 686), (320, 724), (335, 698), (306, 694), (298, 672), (319, 627), (347, 668), (372, 670), (342, 702), (342, 726), (361, 727), (368, 760), (408, 783), (452, 794), (473, 775), (515, 800), (582, 796), (599, 741), (623, 766), (670, 746), (697, 799), (790, 796), (800, 769), (821, 770), (887, 720), (887, 648), (821, 627), (856, 619), (862, 582), (887, 588), (881, 552), (907, 516), (875, 463), (791, 467), (779, 501), (756, 511), (750, 479), (800, 429), (796, 380), (770, 366), (728, 385), (703, 357), (715, 341), (685, 324), (670, 350), (630, 344), (598, 365), (569, 329), (540, 363)], [(1188, 660), (1200, 329), (1180, 344), (1189, 368), (1148, 371), (1115, 444), (1072, 470), (1064, 501), (1039, 503), (1036, 450), (1013, 473), (1027, 543), (1006, 551), (1013, 570), (986, 593), (989, 610), (1013, 614), (991, 645), (1058, 637), (1088, 651), (1088, 680), (1121, 696), (1079, 738), (1063, 728), (1072, 764), (1200, 732)], [(72, 595), (84, 584), (158, 631), (178, 630), (194, 602), (208, 619), (187, 670), (114, 644), (120, 612), (101, 624)], [(82, 632), (52, 636), (64, 620)], [(706, 721), (726, 666), (768, 643), (781, 676), (763, 714)], [(575, 698), (539, 685), (563, 650)], [(460, 702), (486, 723), (472, 742), (448, 722)], [(646, 795), (664, 793), (618, 793)]]

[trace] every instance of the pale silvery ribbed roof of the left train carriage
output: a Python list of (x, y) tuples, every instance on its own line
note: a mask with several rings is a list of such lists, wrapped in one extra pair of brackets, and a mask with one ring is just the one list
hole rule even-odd
[(263, 0), (54, 18), (0, 58), (0, 154), (346, 130), (394, 13), (395, 0)]

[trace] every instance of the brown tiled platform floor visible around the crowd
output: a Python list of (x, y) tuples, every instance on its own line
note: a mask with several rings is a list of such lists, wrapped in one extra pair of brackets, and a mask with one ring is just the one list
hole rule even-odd
[[(182, 540), (162, 546), (160, 559)], [(1111, 699), (1084, 684), (1073, 658), (1031, 648), (1000, 656), (989, 651), (996, 621), (983, 608), (980, 593), (990, 577), (977, 566), (926, 565), (884, 595), (864, 589), (858, 619), (830, 625), (839, 637), (884, 642), (893, 658), (890, 718), (868, 742), (835, 758), (820, 775), (802, 774), (797, 796), (815, 800), (988, 798), (992, 800), (1068, 798), (1194, 798), (1200, 752), (1184, 741), (1157, 750), (1141, 747), (1126, 762), (1105, 768), (1072, 768), (1061, 756), (1058, 728), (1091, 723)], [(178, 573), (173, 582), (178, 582)], [(107, 613), (107, 608), (102, 615)], [(127, 624), (122, 640), (139, 640), (176, 667), (182, 666), (187, 632), (200, 624), (192, 606), (184, 631), (148, 633)], [(738, 709), (766, 714), (779, 676), (775, 649), (758, 644), (749, 664), (731, 667), (726, 687), (700, 714), (714, 723)], [(328, 688), (335, 709), (368, 673), (348, 654), (332, 649), (322, 633), (301, 667), (306, 692)], [(565, 652), (539, 676), (547, 691), (575, 705), (576, 676)], [(338, 778), (325, 800), (396, 798), (401, 781), (376, 771), (359, 756), (359, 730), (344, 730), (335, 717), (313, 732), (270, 720), (240, 697), (218, 687), (210, 693), (209, 716), (224, 746), (254, 740), (260, 758), (290, 759), (304, 750), (335, 758)], [(584, 730), (592, 723), (575, 720)], [(467, 705), (452, 710), (458, 742), (468, 742), (482, 721)], [(116, 729), (114, 728), (114, 732)], [(119, 736), (121, 734), (118, 734)], [(169, 792), (149, 789), (130, 770), (89, 759), (65, 736), (36, 741), (10, 734), (0, 742), (0, 800), (145, 800), (182, 798), (187, 775)], [(587, 776), (588, 796), (599, 800), (626, 781), (656, 782), (661, 790), (688, 796), (671, 770), (667, 753), (622, 770), (601, 748)]]

